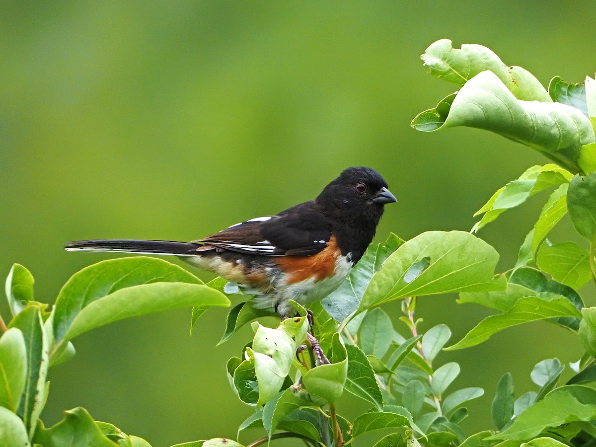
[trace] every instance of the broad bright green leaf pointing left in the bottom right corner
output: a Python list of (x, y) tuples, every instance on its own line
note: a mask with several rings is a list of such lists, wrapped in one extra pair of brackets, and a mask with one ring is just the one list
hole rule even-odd
[(548, 427), (558, 427), (572, 421), (588, 421), (594, 416), (596, 405), (584, 405), (568, 392), (550, 393), (520, 414), (513, 424), (489, 439), (526, 440)]

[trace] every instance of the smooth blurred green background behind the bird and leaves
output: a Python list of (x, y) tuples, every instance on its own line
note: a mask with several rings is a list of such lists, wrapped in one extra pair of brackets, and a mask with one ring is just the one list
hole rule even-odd
[[(547, 160), (487, 132), (412, 130), (455, 90), (427, 75), (420, 54), (440, 38), (479, 43), (544, 85), (577, 82), (594, 73), (594, 19), (592, 2), (560, 1), (2, 2), (0, 272), (22, 263), (36, 299), (53, 302), (70, 275), (113, 257), (66, 253), (66, 241), (199, 238), (308, 200), (355, 165), (380, 170), (399, 200), (377, 241), (468, 230), (493, 191)], [(544, 200), (480, 232), (502, 270)], [(564, 221), (552, 238), (571, 231)], [(583, 295), (593, 304), (593, 290)], [(421, 299), (423, 330), (445, 322), (455, 342), (489, 314), (455, 298)], [(384, 309), (397, 319), (397, 305)], [(251, 331), (215, 347), (225, 315), (207, 312), (192, 337), (190, 309), (79, 337), (75, 358), (50, 371), (46, 425), (81, 405), (154, 446), (235, 437), (252, 410), (225, 363)], [(487, 391), (469, 406), (469, 434), (492, 428), (505, 371), (520, 395), (534, 389), (536, 362), (579, 353), (572, 334), (542, 322), (437, 361), (460, 362), (455, 386)], [(364, 408), (339, 404), (349, 418)]]

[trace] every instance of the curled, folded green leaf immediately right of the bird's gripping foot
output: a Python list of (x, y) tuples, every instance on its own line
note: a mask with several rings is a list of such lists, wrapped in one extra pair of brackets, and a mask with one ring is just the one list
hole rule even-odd
[(339, 334), (331, 341), (330, 365), (319, 365), (302, 376), (302, 384), (316, 405), (333, 403), (342, 396), (347, 378), (347, 352)]

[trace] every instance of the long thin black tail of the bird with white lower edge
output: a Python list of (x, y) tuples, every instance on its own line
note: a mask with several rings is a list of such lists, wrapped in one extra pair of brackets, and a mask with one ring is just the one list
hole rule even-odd
[(106, 239), (69, 242), (67, 252), (119, 252), (173, 254), (175, 256), (194, 256), (202, 244), (177, 241), (142, 241), (135, 239)]

